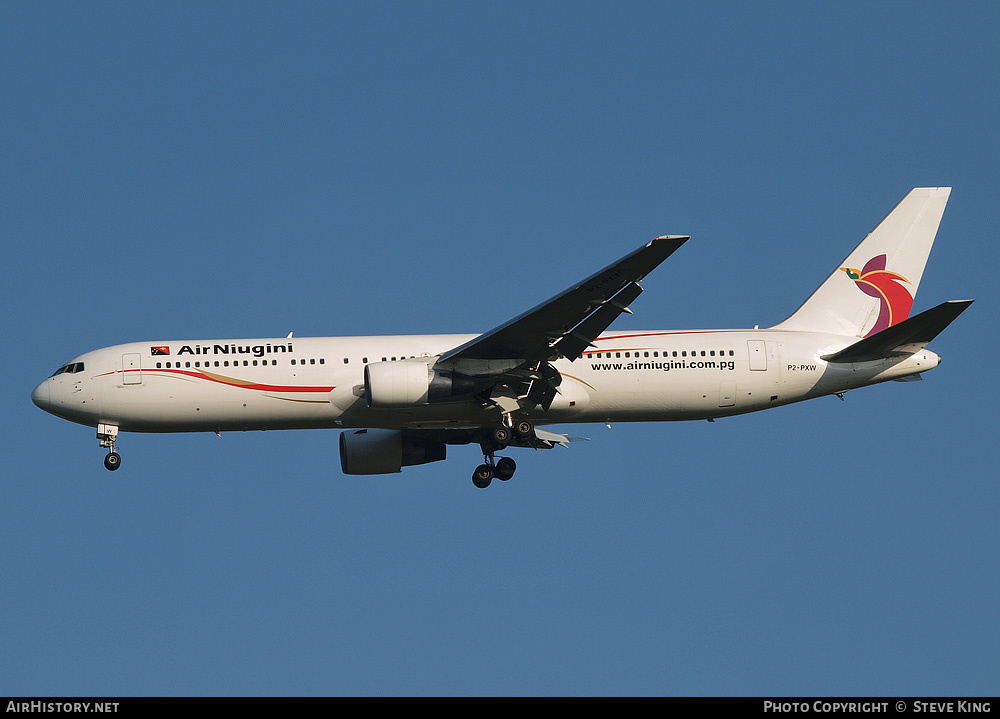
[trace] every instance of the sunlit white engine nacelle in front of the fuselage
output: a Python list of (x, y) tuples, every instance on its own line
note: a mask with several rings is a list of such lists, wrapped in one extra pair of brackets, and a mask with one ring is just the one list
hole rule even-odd
[(471, 377), (433, 370), (426, 362), (373, 362), (365, 365), (365, 402), (369, 407), (412, 407), (472, 394)]

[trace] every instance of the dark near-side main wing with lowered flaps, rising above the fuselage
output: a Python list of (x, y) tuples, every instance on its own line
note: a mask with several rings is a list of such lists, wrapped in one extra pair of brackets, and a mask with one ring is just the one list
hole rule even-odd
[(462, 360), (575, 360), (642, 292), (639, 281), (684, 244), (687, 236), (657, 237), (537, 307), (441, 355)]

